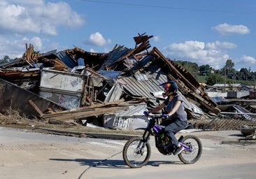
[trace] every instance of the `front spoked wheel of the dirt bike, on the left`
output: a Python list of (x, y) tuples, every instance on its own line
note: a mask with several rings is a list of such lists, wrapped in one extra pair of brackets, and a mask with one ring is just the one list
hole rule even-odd
[(130, 138), (122, 150), (122, 158), (131, 168), (145, 166), (150, 159), (150, 154), (150, 144), (143, 142), (143, 138), (140, 137)]

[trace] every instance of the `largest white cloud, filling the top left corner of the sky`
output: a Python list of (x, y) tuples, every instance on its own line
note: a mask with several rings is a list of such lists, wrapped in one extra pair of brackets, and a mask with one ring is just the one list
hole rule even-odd
[(32, 32), (52, 36), (58, 34), (59, 26), (73, 28), (84, 23), (82, 17), (62, 1), (1, 1), (0, 12), (1, 34)]

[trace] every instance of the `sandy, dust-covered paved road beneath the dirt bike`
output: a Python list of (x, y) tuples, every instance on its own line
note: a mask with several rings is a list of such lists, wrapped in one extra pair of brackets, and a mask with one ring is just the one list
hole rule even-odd
[(176, 156), (161, 155), (151, 141), (148, 165), (129, 169), (122, 160), (126, 141), (0, 128), (0, 178), (255, 178), (256, 145), (237, 143), (239, 131), (192, 134), (204, 146), (199, 162), (185, 165)]

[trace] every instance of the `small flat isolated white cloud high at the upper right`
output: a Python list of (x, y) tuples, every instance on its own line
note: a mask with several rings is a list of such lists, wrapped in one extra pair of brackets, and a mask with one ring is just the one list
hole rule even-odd
[(216, 31), (218, 31), (222, 35), (229, 35), (229, 34), (249, 34), (250, 29), (244, 25), (231, 25), (231, 24), (218, 24), (217, 26), (213, 27)]

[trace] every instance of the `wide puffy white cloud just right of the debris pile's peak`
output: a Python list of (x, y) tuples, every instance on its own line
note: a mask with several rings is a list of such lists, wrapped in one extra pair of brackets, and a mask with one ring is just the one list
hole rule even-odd
[(200, 41), (185, 41), (185, 43), (172, 43), (164, 48), (166, 57), (195, 62), (197, 64), (209, 64), (214, 69), (224, 66), (229, 55), (225, 49), (236, 48), (234, 43), (215, 41), (204, 43)]

